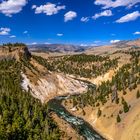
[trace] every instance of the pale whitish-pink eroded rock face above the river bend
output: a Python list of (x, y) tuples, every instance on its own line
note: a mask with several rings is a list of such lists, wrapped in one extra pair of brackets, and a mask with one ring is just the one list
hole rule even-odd
[(30, 90), (32, 95), (42, 103), (57, 96), (79, 94), (88, 90), (88, 86), (84, 82), (63, 74), (49, 74), (46, 78), (40, 78), (36, 85), (31, 83), (23, 73), (22, 77), (23, 89)]

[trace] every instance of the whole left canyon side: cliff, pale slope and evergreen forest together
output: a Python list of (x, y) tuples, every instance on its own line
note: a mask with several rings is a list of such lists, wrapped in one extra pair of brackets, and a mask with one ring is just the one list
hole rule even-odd
[(0, 139), (59, 140), (70, 139), (71, 131), (76, 134), (69, 125), (65, 127), (68, 132), (59, 129), (54, 115), (42, 103), (60, 95), (86, 92), (87, 84), (50, 72), (22, 44), (0, 48), (0, 77)]

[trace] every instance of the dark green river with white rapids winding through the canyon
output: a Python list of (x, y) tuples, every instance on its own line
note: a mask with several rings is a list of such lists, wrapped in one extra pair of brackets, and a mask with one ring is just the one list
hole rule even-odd
[(58, 117), (69, 123), (75, 129), (75, 131), (77, 131), (86, 140), (105, 140), (105, 138), (97, 133), (89, 123), (68, 112), (61, 104), (61, 101), (64, 99), (65, 97), (57, 97), (50, 100), (48, 102), (49, 109), (55, 112)]

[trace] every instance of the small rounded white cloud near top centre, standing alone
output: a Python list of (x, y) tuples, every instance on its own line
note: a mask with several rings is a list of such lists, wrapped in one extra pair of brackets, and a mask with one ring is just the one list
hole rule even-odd
[(77, 17), (77, 13), (74, 11), (69, 11), (64, 15), (64, 21), (67, 22), (69, 20), (73, 20)]

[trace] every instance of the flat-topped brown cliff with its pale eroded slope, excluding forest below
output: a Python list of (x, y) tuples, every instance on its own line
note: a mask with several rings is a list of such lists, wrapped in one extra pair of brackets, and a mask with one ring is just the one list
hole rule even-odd
[(22, 64), (22, 87), (41, 100), (42, 103), (60, 95), (79, 94), (87, 91), (87, 84), (70, 76), (50, 72), (39, 64), (29, 53), (28, 48), (4, 46), (0, 49), (1, 59), (16, 59)]

